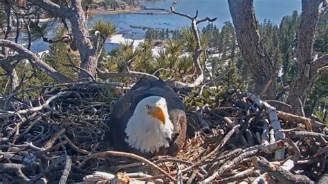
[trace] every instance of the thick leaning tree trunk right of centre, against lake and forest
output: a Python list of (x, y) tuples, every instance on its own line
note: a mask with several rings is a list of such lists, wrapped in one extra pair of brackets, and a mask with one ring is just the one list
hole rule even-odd
[(228, 0), (228, 4), (239, 48), (248, 68), (252, 68), (250, 72), (255, 80), (255, 94), (262, 94), (264, 99), (273, 99), (276, 90), (275, 68), (260, 42), (253, 0)]

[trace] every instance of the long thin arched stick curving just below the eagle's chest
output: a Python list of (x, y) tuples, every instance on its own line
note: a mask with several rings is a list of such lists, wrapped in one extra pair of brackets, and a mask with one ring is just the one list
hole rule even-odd
[(175, 178), (173, 178), (170, 174), (168, 174), (163, 169), (161, 169), (161, 167), (158, 167), (157, 165), (155, 165), (151, 161), (147, 160), (146, 158), (143, 158), (143, 157), (138, 156), (136, 154), (130, 154), (130, 153), (125, 153), (125, 152), (120, 152), (120, 151), (104, 151), (104, 152), (88, 155), (88, 156), (86, 156), (86, 158), (82, 161), (82, 163), (80, 165), (85, 165), (85, 163), (88, 162), (91, 159), (104, 158), (106, 156), (122, 156), (122, 157), (127, 157), (127, 158), (134, 158), (136, 160), (139, 160), (139, 161), (149, 165), (150, 167), (153, 167), (154, 169), (158, 170), (158, 172), (161, 172), (162, 174), (167, 176), (167, 178), (170, 178), (171, 181), (176, 182)]

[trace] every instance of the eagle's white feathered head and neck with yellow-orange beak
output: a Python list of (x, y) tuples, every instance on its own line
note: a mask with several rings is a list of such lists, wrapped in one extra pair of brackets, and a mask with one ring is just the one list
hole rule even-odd
[(125, 142), (143, 153), (154, 153), (160, 147), (169, 147), (173, 125), (165, 98), (149, 96), (140, 100), (127, 122)]

